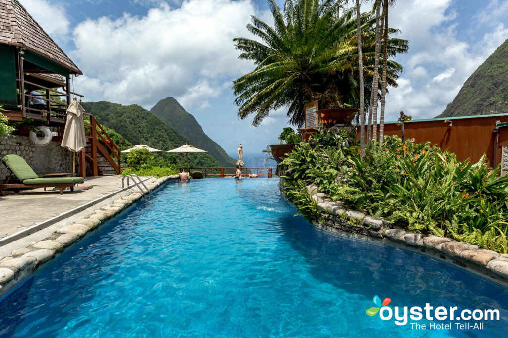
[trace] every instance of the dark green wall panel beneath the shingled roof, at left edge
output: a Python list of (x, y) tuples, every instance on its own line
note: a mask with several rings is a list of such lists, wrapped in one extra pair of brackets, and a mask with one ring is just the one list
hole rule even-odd
[(18, 105), (16, 88), (16, 48), (0, 45), (0, 105)]

